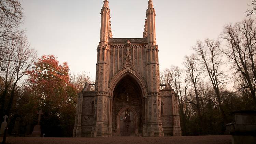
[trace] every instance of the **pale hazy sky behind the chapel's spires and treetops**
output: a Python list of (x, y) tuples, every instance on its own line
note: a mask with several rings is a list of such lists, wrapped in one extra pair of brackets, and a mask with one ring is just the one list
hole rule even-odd
[[(95, 79), (103, 0), (22, 0), (24, 28), (38, 56), (53, 54), (70, 72)], [(109, 0), (113, 38), (142, 38), (148, 0)], [(245, 18), (249, 0), (153, 0), (160, 70), (182, 65), (197, 40), (217, 39)]]

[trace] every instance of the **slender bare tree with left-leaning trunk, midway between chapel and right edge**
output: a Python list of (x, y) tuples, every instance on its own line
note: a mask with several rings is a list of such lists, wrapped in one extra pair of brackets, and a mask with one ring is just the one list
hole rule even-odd
[(208, 74), (208, 77), (214, 88), (222, 117), (224, 121), (228, 123), (225, 112), (223, 110), (219, 90), (221, 86), (227, 82), (228, 78), (224, 71), (221, 69), (223, 62), (221, 58), (222, 52), (219, 51), (219, 47), (219, 41), (205, 39), (204, 43), (197, 41), (197, 44), (193, 49), (197, 52), (198, 60), (202, 64), (202, 69)]

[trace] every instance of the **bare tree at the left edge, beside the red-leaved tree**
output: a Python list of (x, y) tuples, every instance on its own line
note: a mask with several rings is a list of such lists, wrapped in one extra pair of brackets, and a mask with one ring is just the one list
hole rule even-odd
[[(4, 81), (3, 92), (0, 95), (0, 117), (9, 114), (15, 91), (23, 86), (22, 77), (31, 69), (37, 58), (34, 49), (31, 49), (24, 36), (12, 41), (2, 41), (0, 76)], [(5, 100), (9, 101), (5, 101)]]

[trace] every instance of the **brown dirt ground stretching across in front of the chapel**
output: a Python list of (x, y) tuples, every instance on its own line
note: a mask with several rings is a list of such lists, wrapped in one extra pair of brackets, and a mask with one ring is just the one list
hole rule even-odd
[[(0, 138), (1, 140), (2, 138)], [(6, 144), (231, 144), (231, 135), (111, 138), (9, 137)]]

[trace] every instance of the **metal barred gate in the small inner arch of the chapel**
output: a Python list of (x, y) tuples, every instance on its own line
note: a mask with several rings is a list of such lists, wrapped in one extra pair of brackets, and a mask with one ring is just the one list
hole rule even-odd
[(136, 117), (129, 109), (123, 111), (120, 115), (120, 133), (129, 134), (135, 133)]

